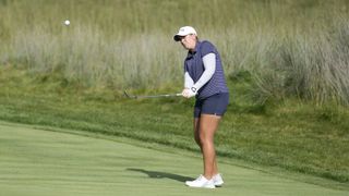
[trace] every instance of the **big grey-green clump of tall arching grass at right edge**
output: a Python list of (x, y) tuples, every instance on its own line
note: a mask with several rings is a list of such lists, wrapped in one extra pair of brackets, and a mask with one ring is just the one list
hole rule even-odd
[[(270, 44), (266, 64), (255, 73), (262, 101), (299, 97), (318, 105), (349, 103), (348, 20), (335, 20), (332, 28), (296, 33)], [(269, 39), (272, 40), (272, 39)], [(263, 60), (258, 60), (263, 65)]]

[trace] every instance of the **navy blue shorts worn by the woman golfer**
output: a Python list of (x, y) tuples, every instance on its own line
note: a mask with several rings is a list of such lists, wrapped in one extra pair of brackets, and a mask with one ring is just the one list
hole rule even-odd
[(216, 94), (205, 99), (196, 99), (194, 107), (194, 118), (201, 114), (214, 114), (222, 117), (227, 111), (229, 94)]

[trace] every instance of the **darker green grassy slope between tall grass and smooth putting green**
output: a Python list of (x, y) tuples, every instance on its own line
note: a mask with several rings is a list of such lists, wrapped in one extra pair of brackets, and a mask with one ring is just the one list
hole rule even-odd
[[(347, 110), (285, 101), (251, 105), (249, 83), (230, 81), (232, 102), (216, 137), (221, 157), (349, 181)], [(1, 68), (0, 119), (127, 136), (197, 151), (192, 100), (127, 100), (119, 91), (83, 90), (59, 78), (28, 77)]]

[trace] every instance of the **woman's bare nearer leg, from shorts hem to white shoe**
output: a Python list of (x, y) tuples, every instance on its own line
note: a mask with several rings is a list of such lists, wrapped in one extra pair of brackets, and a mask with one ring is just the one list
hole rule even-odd
[(206, 179), (212, 179), (218, 172), (214, 136), (220, 119), (221, 117), (214, 114), (202, 114), (200, 118), (200, 140), (204, 159), (204, 176)]

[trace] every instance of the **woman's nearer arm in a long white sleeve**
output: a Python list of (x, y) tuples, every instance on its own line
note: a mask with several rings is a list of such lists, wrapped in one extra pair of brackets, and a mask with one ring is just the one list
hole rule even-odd
[(203, 87), (214, 75), (216, 71), (216, 54), (208, 53), (203, 57), (203, 62), (205, 66), (205, 71), (203, 75), (198, 78), (198, 81), (193, 85), (196, 90)]

